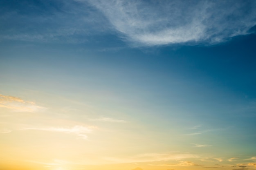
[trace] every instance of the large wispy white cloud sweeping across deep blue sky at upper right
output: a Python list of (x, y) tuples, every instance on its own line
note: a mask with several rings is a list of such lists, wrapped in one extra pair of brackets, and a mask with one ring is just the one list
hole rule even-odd
[(218, 43), (245, 35), (256, 24), (254, 0), (87, 2), (106, 16), (124, 40), (142, 46)]

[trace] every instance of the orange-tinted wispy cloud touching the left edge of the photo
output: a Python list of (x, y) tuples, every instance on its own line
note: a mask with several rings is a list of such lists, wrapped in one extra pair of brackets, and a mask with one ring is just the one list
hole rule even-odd
[(9, 108), (16, 112), (37, 112), (47, 108), (36, 105), (35, 102), (25, 101), (18, 97), (0, 94), (0, 107)]

